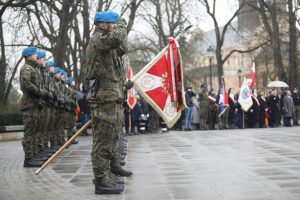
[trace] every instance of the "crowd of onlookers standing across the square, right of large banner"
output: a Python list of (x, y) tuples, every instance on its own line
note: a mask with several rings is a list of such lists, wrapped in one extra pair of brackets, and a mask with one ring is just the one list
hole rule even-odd
[[(200, 93), (196, 94), (191, 86), (185, 93), (187, 109), (182, 116), (184, 130), (212, 130), (229, 128), (266, 128), (291, 127), (299, 123), (300, 118), (300, 92), (298, 88), (276, 89), (265, 93), (252, 90), (252, 106), (244, 111), (238, 102), (239, 91), (230, 88), (227, 96), (222, 90), (207, 90), (205, 84), (200, 85)], [(222, 100), (219, 104), (218, 99)], [(224, 102), (228, 102), (224, 105)], [(179, 121), (178, 123), (182, 123)], [(181, 126), (177, 126), (180, 130)]]

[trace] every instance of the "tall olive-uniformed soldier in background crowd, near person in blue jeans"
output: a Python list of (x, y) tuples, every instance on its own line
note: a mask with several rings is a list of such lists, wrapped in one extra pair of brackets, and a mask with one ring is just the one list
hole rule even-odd
[(200, 85), (200, 93), (199, 93), (199, 118), (200, 118), (200, 129), (207, 130), (207, 115), (208, 115), (208, 94), (206, 84), (202, 83)]

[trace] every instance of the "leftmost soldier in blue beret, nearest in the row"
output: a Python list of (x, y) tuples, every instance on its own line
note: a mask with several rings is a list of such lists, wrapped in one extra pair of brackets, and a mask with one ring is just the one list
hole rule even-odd
[(37, 48), (27, 47), (23, 50), (22, 56), (25, 64), (20, 71), (20, 87), (23, 96), (20, 102), (20, 109), (23, 112), (24, 137), (22, 140), (25, 153), (24, 167), (40, 167), (43, 160), (36, 157), (38, 103), (43, 95), (39, 88), (40, 77), (37, 68)]

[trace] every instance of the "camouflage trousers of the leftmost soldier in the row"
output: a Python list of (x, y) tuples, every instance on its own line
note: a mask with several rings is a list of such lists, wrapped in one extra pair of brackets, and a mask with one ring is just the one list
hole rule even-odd
[(23, 111), (24, 137), (22, 145), (25, 153), (25, 159), (32, 158), (35, 151), (37, 151), (37, 146), (34, 146), (37, 138), (37, 115), (38, 108)]

